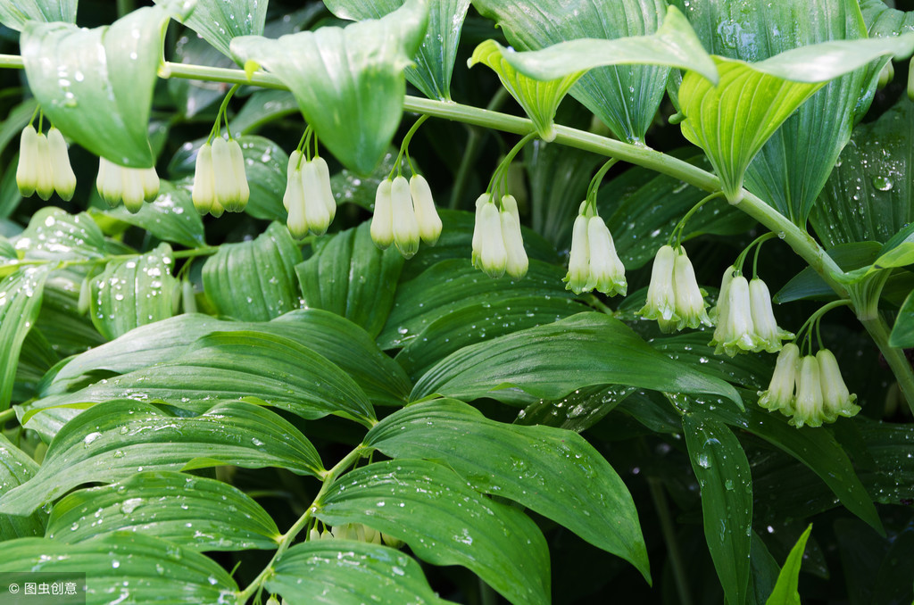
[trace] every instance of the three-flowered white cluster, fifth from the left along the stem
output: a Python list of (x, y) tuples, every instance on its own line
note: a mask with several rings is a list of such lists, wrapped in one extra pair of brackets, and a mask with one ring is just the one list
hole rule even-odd
[(371, 239), (378, 248), (394, 244), (411, 259), (419, 251), (420, 239), (434, 246), (440, 236), (441, 218), (425, 177), (412, 175), (407, 182), (405, 176), (398, 176), (380, 182), (371, 219)]

